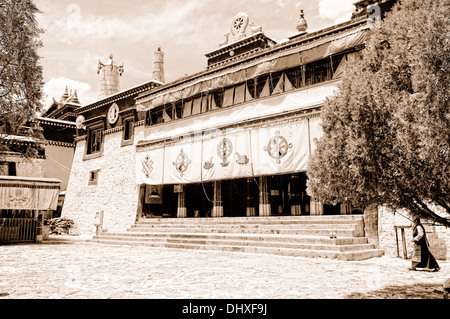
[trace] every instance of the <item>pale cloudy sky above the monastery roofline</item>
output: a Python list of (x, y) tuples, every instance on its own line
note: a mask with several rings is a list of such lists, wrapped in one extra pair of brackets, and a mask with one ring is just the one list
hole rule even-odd
[[(308, 32), (350, 19), (356, 0), (35, 0), (43, 47), (44, 108), (67, 86), (82, 105), (98, 98), (98, 62), (109, 54), (124, 64), (120, 90), (152, 79), (154, 51), (165, 53), (166, 83), (206, 69), (231, 21), (245, 12), (266, 36), (281, 42), (297, 33), (300, 9)], [(250, 31), (247, 30), (247, 34)]]

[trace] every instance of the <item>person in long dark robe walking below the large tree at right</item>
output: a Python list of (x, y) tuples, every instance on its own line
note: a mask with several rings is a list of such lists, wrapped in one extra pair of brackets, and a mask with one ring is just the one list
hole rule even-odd
[(425, 228), (420, 223), (420, 218), (415, 217), (412, 222), (414, 252), (411, 262), (411, 270), (438, 271), (439, 265), (430, 251)]

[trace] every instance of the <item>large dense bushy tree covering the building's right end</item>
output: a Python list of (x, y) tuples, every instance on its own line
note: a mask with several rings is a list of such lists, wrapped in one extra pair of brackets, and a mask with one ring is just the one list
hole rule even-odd
[(450, 226), (448, 1), (402, 0), (322, 109), (316, 200), (388, 205)]

